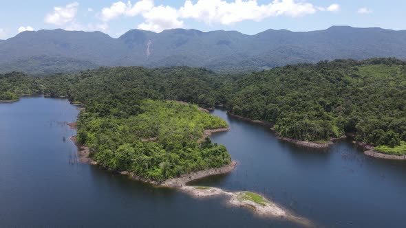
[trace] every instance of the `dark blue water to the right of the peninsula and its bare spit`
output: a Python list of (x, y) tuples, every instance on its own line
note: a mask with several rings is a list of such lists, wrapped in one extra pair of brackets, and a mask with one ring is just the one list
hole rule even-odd
[(224, 178), (197, 183), (260, 192), (323, 227), (406, 227), (405, 161), (366, 157), (350, 140), (328, 150), (301, 148), (224, 111), (213, 115), (231, 130), (212, 140), (239, 166)]

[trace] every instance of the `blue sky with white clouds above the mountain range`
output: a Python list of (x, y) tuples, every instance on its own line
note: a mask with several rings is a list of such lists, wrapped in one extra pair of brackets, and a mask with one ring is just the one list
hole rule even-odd
[(23, 31), (101, 31), (118, 37), (132, 29), (172, 28), (295, 32), (332, 25), (406, 30), (405, 0), (0, 0), (0, 39)]

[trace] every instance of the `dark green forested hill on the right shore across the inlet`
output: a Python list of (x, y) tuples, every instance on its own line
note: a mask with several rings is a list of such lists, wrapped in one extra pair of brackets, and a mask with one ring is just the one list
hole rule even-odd
[(225, 88), (231, 113), (275, 125), (282, 137), (329, 140), (345, 133), (374, 146), (405, 140), (406, 62), (335, 60), (252, 73)]

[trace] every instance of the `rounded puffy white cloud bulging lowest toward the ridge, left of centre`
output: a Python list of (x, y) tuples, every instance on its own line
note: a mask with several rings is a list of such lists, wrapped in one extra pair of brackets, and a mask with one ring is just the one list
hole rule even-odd
[(142, 14), (145, 22), (138, 25), (140, 30), (162, 32), (162, 30), (183, 27), (183, 21), (178, 20), (178, 11), (170, 6), (160, 5)]

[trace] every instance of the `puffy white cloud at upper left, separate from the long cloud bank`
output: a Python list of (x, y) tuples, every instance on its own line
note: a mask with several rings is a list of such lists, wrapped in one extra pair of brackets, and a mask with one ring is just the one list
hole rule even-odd
[(54, 12), (45, 16), (45, 22), (54, 25), (65, 25), (74, 21), (79, 3), (69, 3), (65, 7), (56, 6)]

